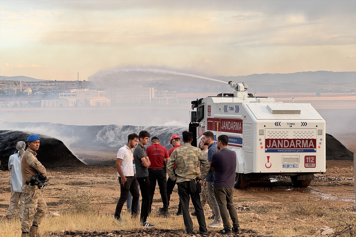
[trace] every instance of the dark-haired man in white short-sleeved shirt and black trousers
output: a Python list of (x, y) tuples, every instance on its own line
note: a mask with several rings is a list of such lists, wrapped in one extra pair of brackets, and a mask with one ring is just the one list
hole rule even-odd
[(135, 172), (132, 166), (132, 148), (135, 148), (137, 143), (138, 135), (132, 133), (127, 136), (127, 144), (117, 151), (116, 170), (120, 183), (120, 198), (119, 201), (117, 201), (114, 217), (119, 222), (122, 221), (120, 217), (121, 210), (129, 195), (129, 191), (132, 194), (131, 216), (137, 216), (137, 203), (140, 193), (138, 192)]

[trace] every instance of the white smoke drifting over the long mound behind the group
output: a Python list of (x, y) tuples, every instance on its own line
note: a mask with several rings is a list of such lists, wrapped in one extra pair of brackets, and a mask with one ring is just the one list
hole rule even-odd
[(132, 126), (132, 125), (93, 125), (78, 126), (53, 123), (8, 123), (2, 122), (2, 130), (19, 130), (32, 134), (42, 134), (63, 141), (66, 146), (121, 147), (127, 143), (127, 135), (147, 130), (151, 136), (158, 136), (161, 145), (170, 147), (169, 138), (181, 135), (186, 127), (179, 126)]

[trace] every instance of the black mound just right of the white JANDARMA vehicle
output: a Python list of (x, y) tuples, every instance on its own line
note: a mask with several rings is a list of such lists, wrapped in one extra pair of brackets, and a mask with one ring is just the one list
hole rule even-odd
[(325, 134), (326, 138), (326, 160), (354, 160), (354, 153), (348, 150), (339, 140)]

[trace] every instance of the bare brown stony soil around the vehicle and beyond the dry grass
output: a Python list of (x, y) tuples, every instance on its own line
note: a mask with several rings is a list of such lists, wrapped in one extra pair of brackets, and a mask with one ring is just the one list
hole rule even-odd
[[(0, 182), (3, 184), (3, 188), (0, 189), (0, 218), (1, 215), (4, 217), (8, 207), (8, 200), (10, 197), (9, 176), (9, 171), (0, 171)], [(56, 168), (49, 169), (47, 176), (50, 181), (47, 187), (43, 189), (42, 193), (48, 204), (48, 215), (53, 215), (53, 213), (58, 213), (60, 210), (66, 208), (66, 206), (63, 205), (63, 200), (61, 200), (61, 195), (68, 189), (89, 190), (92, 193), (100, 193), (101, 195), (104, 195), (99, 211), (104, 215), (113, 214), (120, 193), (115, 169), (113, 167), (88, 166), (78, 169), (67, 168), (66, 171), (61, 168)], [(162, 205), (158, 193), (159, 191), (157, 187), (155, 198), (153, 199), (153, 210), (157, 210)], [(180, 219), (180, 217), (175, 216), (178, 206), (177, 189), (174, 190), (172, 195), (170, 212), (174, 218), (171, 218), (174, 219), (173, 221), (182, 222), (183, 220)], [(316, 206), (327, 206), (330, 210), (343, 210), (347, 213), (352, 211), (355, 212), (353, 161), (327, 161), (326, 173), (317, 174), (314, 181), (312, 181), (308, 188), (294, 188), (289, 177), (274, 176), (266, 178), (263, 181), (253, 182), (247, 189), (235, 190), (234, 203), (241, 222), (241, 233), (240, 235), (235, 234), (221, 236), (276, 236), (276, 231), (278, 231), (278, 229), (287, 228), (288, 225), (291, 225), (291, 222), (300, 222), (301, 225), (307, 225), (305, 224), (307, 223), (305, 220), (307, 217), (303, 217), (305, 213), (297, 213), (297, 216), (293, 215), (293, 213), (296, 213), (296, 210), (293, 209), (293, 207), (296, 205), (303, 207), (303, 200), (315, 200), (315, 203), (318, 203)], [(305, 205), (309, 205), (303, 207), (307, 212), (315, 211), (316, 216), (323, 215), (318, 213), (318, 210), (316, 210), (317, 208), (312, 206), (312, 204), (309, 203)], [(190, 209), (193, 211), (192, 206)], [(282, 212), (278, 213), (278, 211), (276, 211), (278, 209), (287, 211), (284, 214)], [(207, 205), (204, 210), (206, 216), (211, 215)], [(306, 214), (309, 215), (308, 213)], [(310, 213), (310, 215), (314, 214)], [(155, 222), (155, 215), (150, 218), (152, 222)], [(208, 222), (209, 220), (207, 219), (206, 221)], [(310, 223), (308, 223), (308, 226), (309, 224)], [(320, 228), (320, 226), (324, 226), (325, 223), (315, 222), (311, 225), (312, 226), (309, 226), (308, 228), (312, 228), (310, 231), (314, 233)], [(194, 230), (198, 231), (196, 222), (194, 224)], [(220, 234), (216, 233), (216, 231), (218, 231), (217, 229), (208, 228), (208, 231), (209, 234), (207, 236), (209, 237), (220, 236)], [(356, 235), (356, 230), (353, 231), (355, 231)], [(185, 236), (182, 229), (171, 229), (167, 227), (152, 229), (138, 228), (135, 230), (112, 230), (106, 232), (88, 232), (71, 229), (66, 230), (64, 227), (64, 231), (47, 232), (46, 235), (61, 237)], [(199, 235), (195, 234), (195, 236)], [(297, 235), (292, 234), (284, 236)]]

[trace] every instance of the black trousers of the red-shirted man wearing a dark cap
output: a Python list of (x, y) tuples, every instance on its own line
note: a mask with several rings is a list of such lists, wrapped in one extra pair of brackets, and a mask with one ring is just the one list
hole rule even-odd
[(168, 198), (167, 198), (167, 180), (166, 172), (163, 168), (161, 169), (150, 169), (148, 168), (148, 179), (151, 184), (151, 199), (148, 208), (148, 212), (151, 212), (153, 195), (155, 195), (156, 183), (158, 183), (159, 193), (161, 194), (163, 211), (168, 211)]

